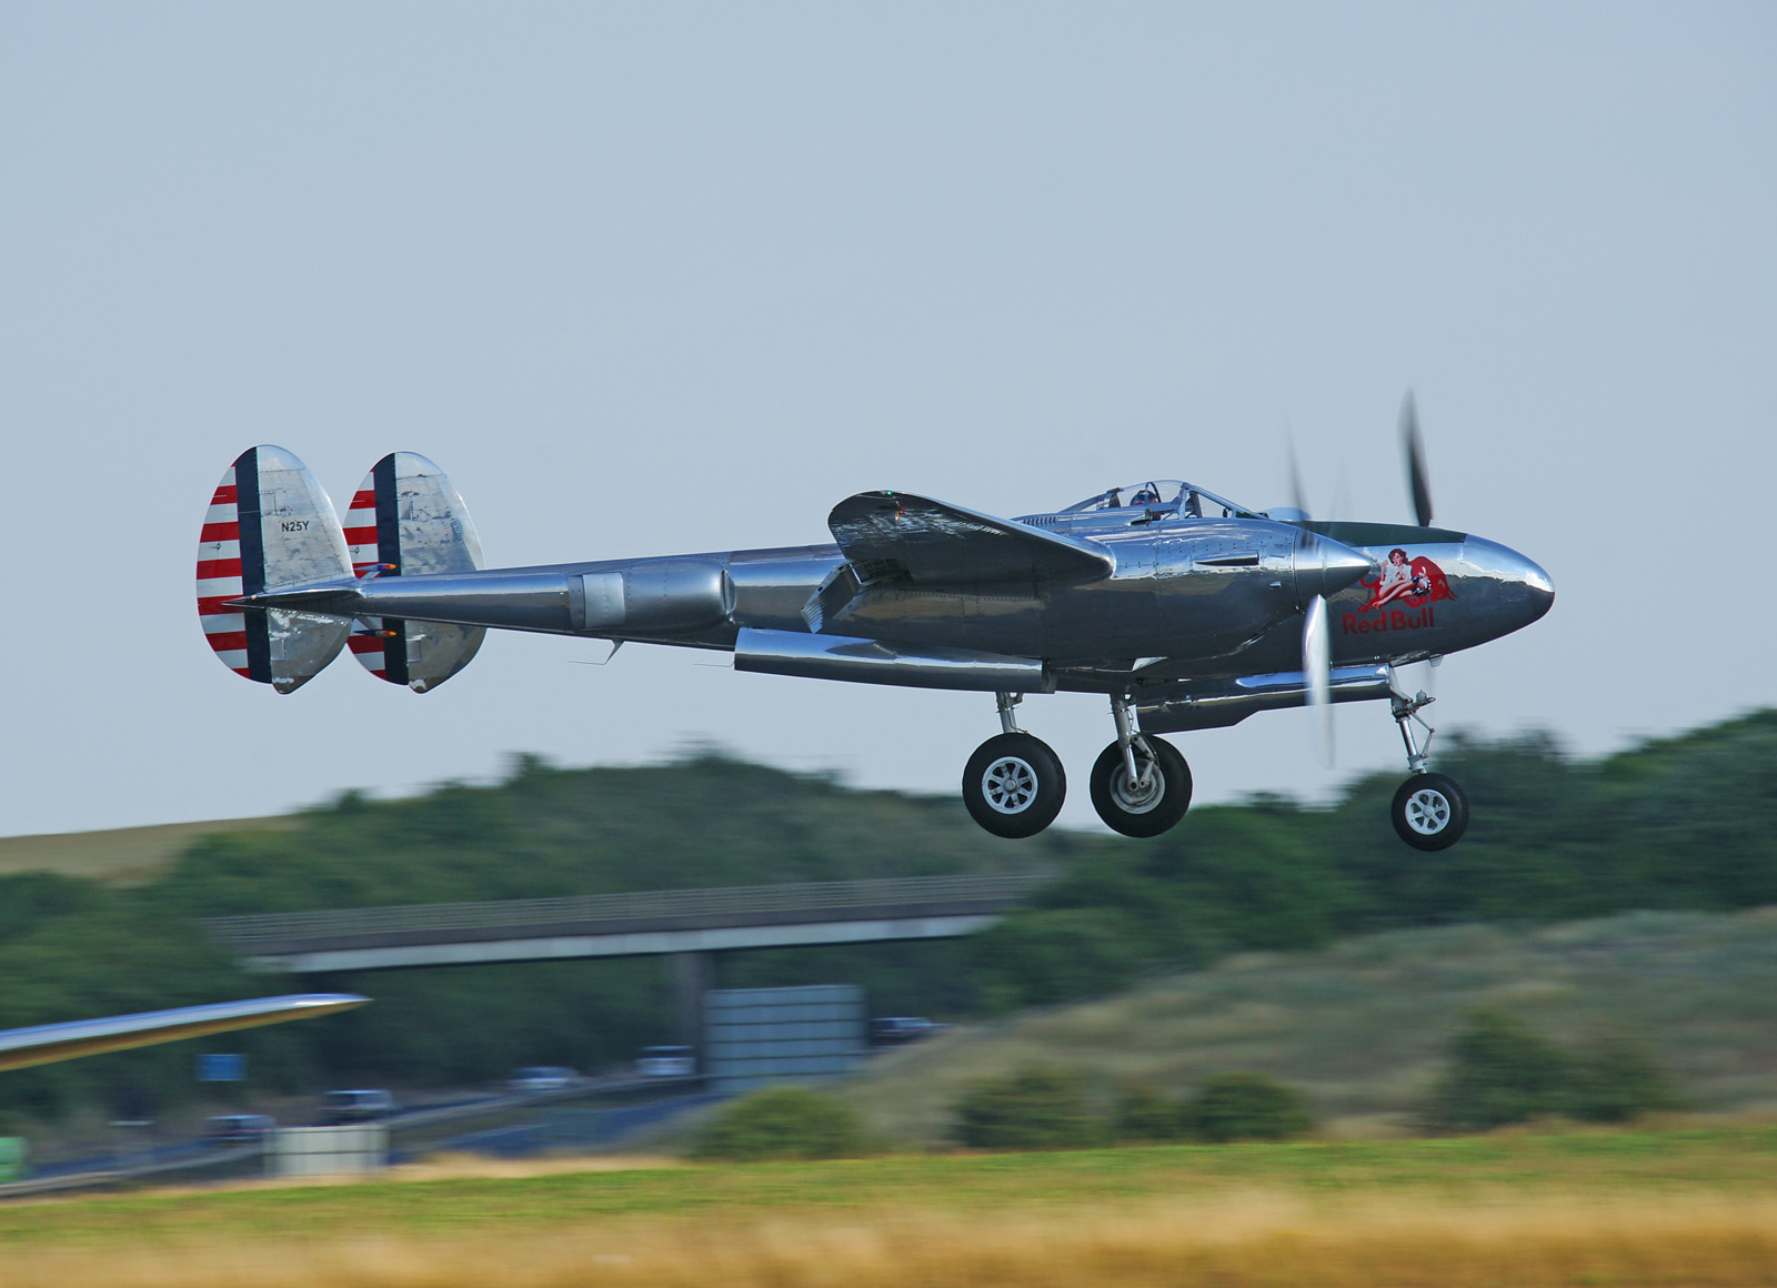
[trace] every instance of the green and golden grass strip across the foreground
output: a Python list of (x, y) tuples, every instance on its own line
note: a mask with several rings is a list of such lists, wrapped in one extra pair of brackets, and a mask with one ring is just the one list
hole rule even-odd
[(11, 1205), (0, 1283), (1777, 1283), (1768, 1125), (574, 1167)]

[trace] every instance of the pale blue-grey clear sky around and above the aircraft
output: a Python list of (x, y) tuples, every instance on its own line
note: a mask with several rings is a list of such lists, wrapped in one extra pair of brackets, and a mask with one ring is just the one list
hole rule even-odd
[[(709, 739), (952, 791), (992, 700), (492, 636), (416, 696), (224, 672), (190, 572), (254, 442), (403, 448), (490, 563), (825, 540), (1192, 478), (1438, 517), (1555, 611), (1434, 723), (1599, 751), (1777, 702), (1777, 7), (0, 9), (0, 833), (263, 814)], [(1075, 776), (1100, 702), (1031, 700)], [(1381, 705), (1180, 744), (1198, 799), (1404, 769)], [(720, 808), (720, 803), (698, 803)]]

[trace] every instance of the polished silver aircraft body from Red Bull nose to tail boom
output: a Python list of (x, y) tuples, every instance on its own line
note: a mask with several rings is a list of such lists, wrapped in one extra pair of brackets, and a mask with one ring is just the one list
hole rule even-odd
[[(1130, 693), (1153, 704), (1299, 673), (1301, 613), (1317, 593), (1327, 597), (1335, 668), (1471, 648), (1537, 620), (1553, 599), (1548, 576), (1525, 556), (1446, 529), (1130, 510), (1018, 522), (1107, 551), (1109, 568), (1079, 579), (869, 579), (825, 544), (380, 577), (302, 588), (279, 602), (732, 650), (739, 670)], [(1338, 577), (1315, 570), (1326, 558), (1317, 545), (1343, 553)], [(1391, 551), (1429, 561), (1441, 574), (1438, 593), (1370, 608)], [(1370, 576), (1359, 576), (1363, 565)]]

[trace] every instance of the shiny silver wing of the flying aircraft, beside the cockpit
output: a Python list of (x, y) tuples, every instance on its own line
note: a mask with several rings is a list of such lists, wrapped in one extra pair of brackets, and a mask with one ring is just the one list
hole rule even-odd
[(1116, 568), (1111, 551), (910, 492), (858, 492), (826, 517), (862, 581), (945, 584), (1086, 581)]

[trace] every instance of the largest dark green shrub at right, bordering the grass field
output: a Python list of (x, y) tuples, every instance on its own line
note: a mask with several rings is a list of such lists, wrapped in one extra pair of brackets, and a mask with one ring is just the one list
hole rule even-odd
[(1667, 1075), (1626, 1038), (1571, 1055), (1516, 1016), (1475, 1011), (1450, 1045), (1427, 1121), (1459, 1132), (1555, 1114), (1621, 1123), (1676, 1105)]

